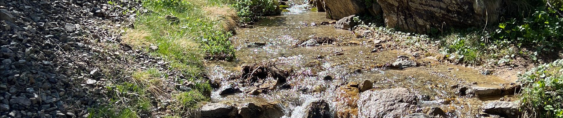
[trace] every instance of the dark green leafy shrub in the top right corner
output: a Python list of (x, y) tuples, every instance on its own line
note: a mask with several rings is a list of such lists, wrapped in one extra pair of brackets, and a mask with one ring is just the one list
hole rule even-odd
[[(528, 2), (528, 4), (538, 3), (532, 0), (528, 0)], [(562, 2), (547, 3), (547, 1), (544, 1), (539, 3), (539, 7), (530, 16), (524, 15), (522, 20), (512, 18), (500, 23), (499, 29), (491, 33), (493, 39), (511, 41), (516, 43), (517, 46), (538, 47), (538, 50), (563, 46), (563, 43), (561, 43), (561, 38), (563, 38), (563, 27), (561, 27), (563, 23), (561, 16)]]

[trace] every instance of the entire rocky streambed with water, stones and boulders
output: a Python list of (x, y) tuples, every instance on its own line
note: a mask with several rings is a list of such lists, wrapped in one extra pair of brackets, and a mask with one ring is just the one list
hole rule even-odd
[(237, 30), (236, 60), (206, 62), (215, 90), (203, 117), (517, 115), (515, 83), (386, 49), (303, 1), (287, 3), (290, 12)]

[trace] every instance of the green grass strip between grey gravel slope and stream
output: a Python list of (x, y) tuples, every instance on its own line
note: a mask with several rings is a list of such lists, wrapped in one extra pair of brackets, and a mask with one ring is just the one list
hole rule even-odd
[[(226, 0), (142, 0), (142, 3), (151, 12), (138, 15), (135, 28), (125, 29), (123, 43), (162, 57), (170, 62), (170, 68), (140, 69), (131, 73), (131, 79), (117, 81), (125, 83), (109, 83), (106, 95), (110, 101), (91, 108), (89, 117), (139, 117), (152, 112), (149, 111), (155, 107), (152, 103), (158, 100), (149, 97), (157, 96), (172, 97), (168, 109), (173, 114), (169, 117), (192, 115), (200, 103), (209, 100), (212, 90), (203, 79), (202, 60), (236, 58), (228, 38), (238, 17)], [(167, 20), (166, 15), (177, 20)], [(150, 46), (158, 49), (151, 50)], [(184, 78), (169, 77), (163, 72), (168, 70), (179, 71)], [(169, 93), (162, 89), (166, 81), (191, 81), (195, 85), (189, 92)]]

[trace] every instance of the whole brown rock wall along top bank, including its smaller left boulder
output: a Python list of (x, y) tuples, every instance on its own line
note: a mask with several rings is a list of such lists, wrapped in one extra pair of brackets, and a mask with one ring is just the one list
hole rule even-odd
[(506, 11), (502, 0), (377, 0), (371, 4), (360, 0), (328, 0), (323, 3), (331, 19), (358, 14), (383, 15), (387, 27), (421, 34), (431, 29), (493, 24)]

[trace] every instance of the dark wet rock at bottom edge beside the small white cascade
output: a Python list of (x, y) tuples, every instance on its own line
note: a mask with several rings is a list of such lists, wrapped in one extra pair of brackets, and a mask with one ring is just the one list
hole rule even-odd
[(331, 118), (330, 104), (325, 100), (311, 102), (307, 111), (307, 118)]

